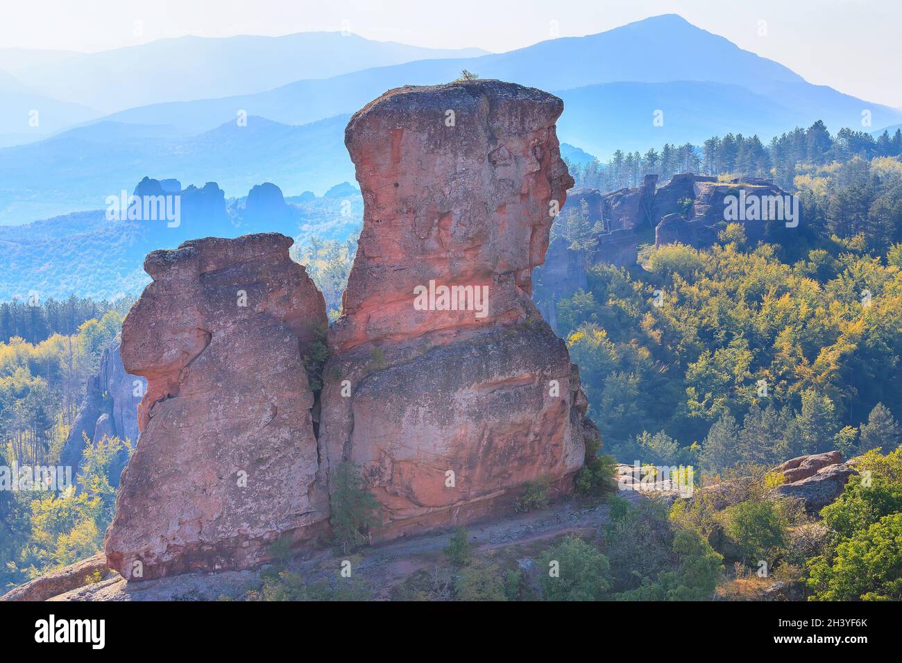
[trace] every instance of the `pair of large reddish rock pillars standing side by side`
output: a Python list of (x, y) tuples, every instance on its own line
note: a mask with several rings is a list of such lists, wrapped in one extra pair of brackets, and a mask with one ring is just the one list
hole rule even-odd
[(364, 229), (321, 394), (303, 358), (325, 303), (288, 237), (148, 255), (123, 324), (147, 392), (110, 566), (136, 580), (258, 565), (281, 534), (327, 529), (343, 461), (382, 502), (376, 539), (497, 513), (540, 478), (570, 489), (597, 429), (530, 299), (573, 184), (562, 109), (480, 80), (391, 90), (352, 117)]

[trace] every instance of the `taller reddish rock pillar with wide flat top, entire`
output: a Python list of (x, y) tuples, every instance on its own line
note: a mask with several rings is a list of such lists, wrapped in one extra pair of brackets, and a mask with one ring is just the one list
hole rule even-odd
[[(364, 229), (329, 332), (320, 447), (330, 467), (363, 467), (377, 538), (488, 515), (542, 476), (566, 490), (583, 464), (579, 375), (529, 299), (549, 204), (573, 184), (562, 109), (495, 80), (401, 87), (345, 130)], [(484, 315), (465, 296), (419, 310), (430, 281), (484, 286)]]

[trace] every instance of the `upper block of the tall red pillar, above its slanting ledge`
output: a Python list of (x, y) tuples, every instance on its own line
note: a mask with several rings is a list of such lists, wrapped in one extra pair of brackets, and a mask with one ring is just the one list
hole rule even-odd
[[(364, 229), (331, 339), (340, 351), (462, 327), (511, 324), (534, 311), (532, 268), (573, 179), (539, 90), (482, 80), (400, 87), (351, 118), (345, 144), (364, 197)], [(491, 306), (415, 310), (413, 289), (487, 286)]]

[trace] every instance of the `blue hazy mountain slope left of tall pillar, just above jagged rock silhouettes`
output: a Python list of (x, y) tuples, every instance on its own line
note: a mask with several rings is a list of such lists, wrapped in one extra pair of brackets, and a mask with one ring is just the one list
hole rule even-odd
[[(41, 143), (0, 150), (0, 225), (103, 206), (107, 196), (150, 174), (183, 181), (216, 181), (230, 196), (261, 181), (287, 195), (322, 194), (354, 180), (343, 136), (349, 115), (290, 126), (250, 116), (180, 138), (167, 126), (105, 121)], [(72, 167), (77, 155), (78, 167)], [(26, 211), (27, 210), (27, 211)]]

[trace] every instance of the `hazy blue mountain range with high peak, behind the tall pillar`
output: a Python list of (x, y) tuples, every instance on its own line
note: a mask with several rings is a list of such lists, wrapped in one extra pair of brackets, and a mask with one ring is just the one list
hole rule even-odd
[[(233, 47), (244, 52), (238, 64)], [(201, 51), (207, 55), (199, 57)], [(316, 52), (318, 57), (276, 57), (287, 52)], [(4, 53), (0, 51), (0, 69), (13, 66)], [(860, 128), (864, 110), (870, 111), (872, 126), (902, 122), (898, 110), (811, 85), (777, 62), (743, 51), (676, 14), (507, 53), (447, 55), (326, 32), (183, 38), (90, 58), (44, 56), (32, 69), (14, 69), (8, 86), (37, 69), (95, 62), (98, 80), (105, 80), (105, 67), (129, 72), (124, 90), (132, 79), (143, 78), (142, 68), (151, 68), (143, 88), (161, 87), (157, 97), (163, 99), (195, 98), (133, 107), (42, 142), (0, 149), (0, 224), (97, 207), (99, 199), (147, 174), (215, 180), (228, 197), (243, 196), (267, 180), (288, 197), (306, 190), (322, 194), (336, 182), (354, 179), (343, 143), (350, 113), (391, 87), (443, 83), (457, 78), (461, 69), (555, 92), (565, 101), (557, 125), (561, 141), (603, 160), (617, 149), (644, 152), (667, 142), (698, 144), (727, 132), (759, 134), (767, 142), (773, 134), (817, 119), (833, 132), (843, 126)], [(116, 56), (118, 69), (111, 60)], [(189, 57), (198, 61), (170, 75), (174, 62)], [(432, 59), (394, 63), (416, 57)], [(388, 66), (373, 67), (381, 64)], [(369, 69), (349, 71), (362, 66)], [(268, 87), (286, 78), (295, 80), (248, 91), (249, 86)], [(221, 96), (237, 89), (243, 93)], [(196, 98), (204, 96), (211, 98)]]

